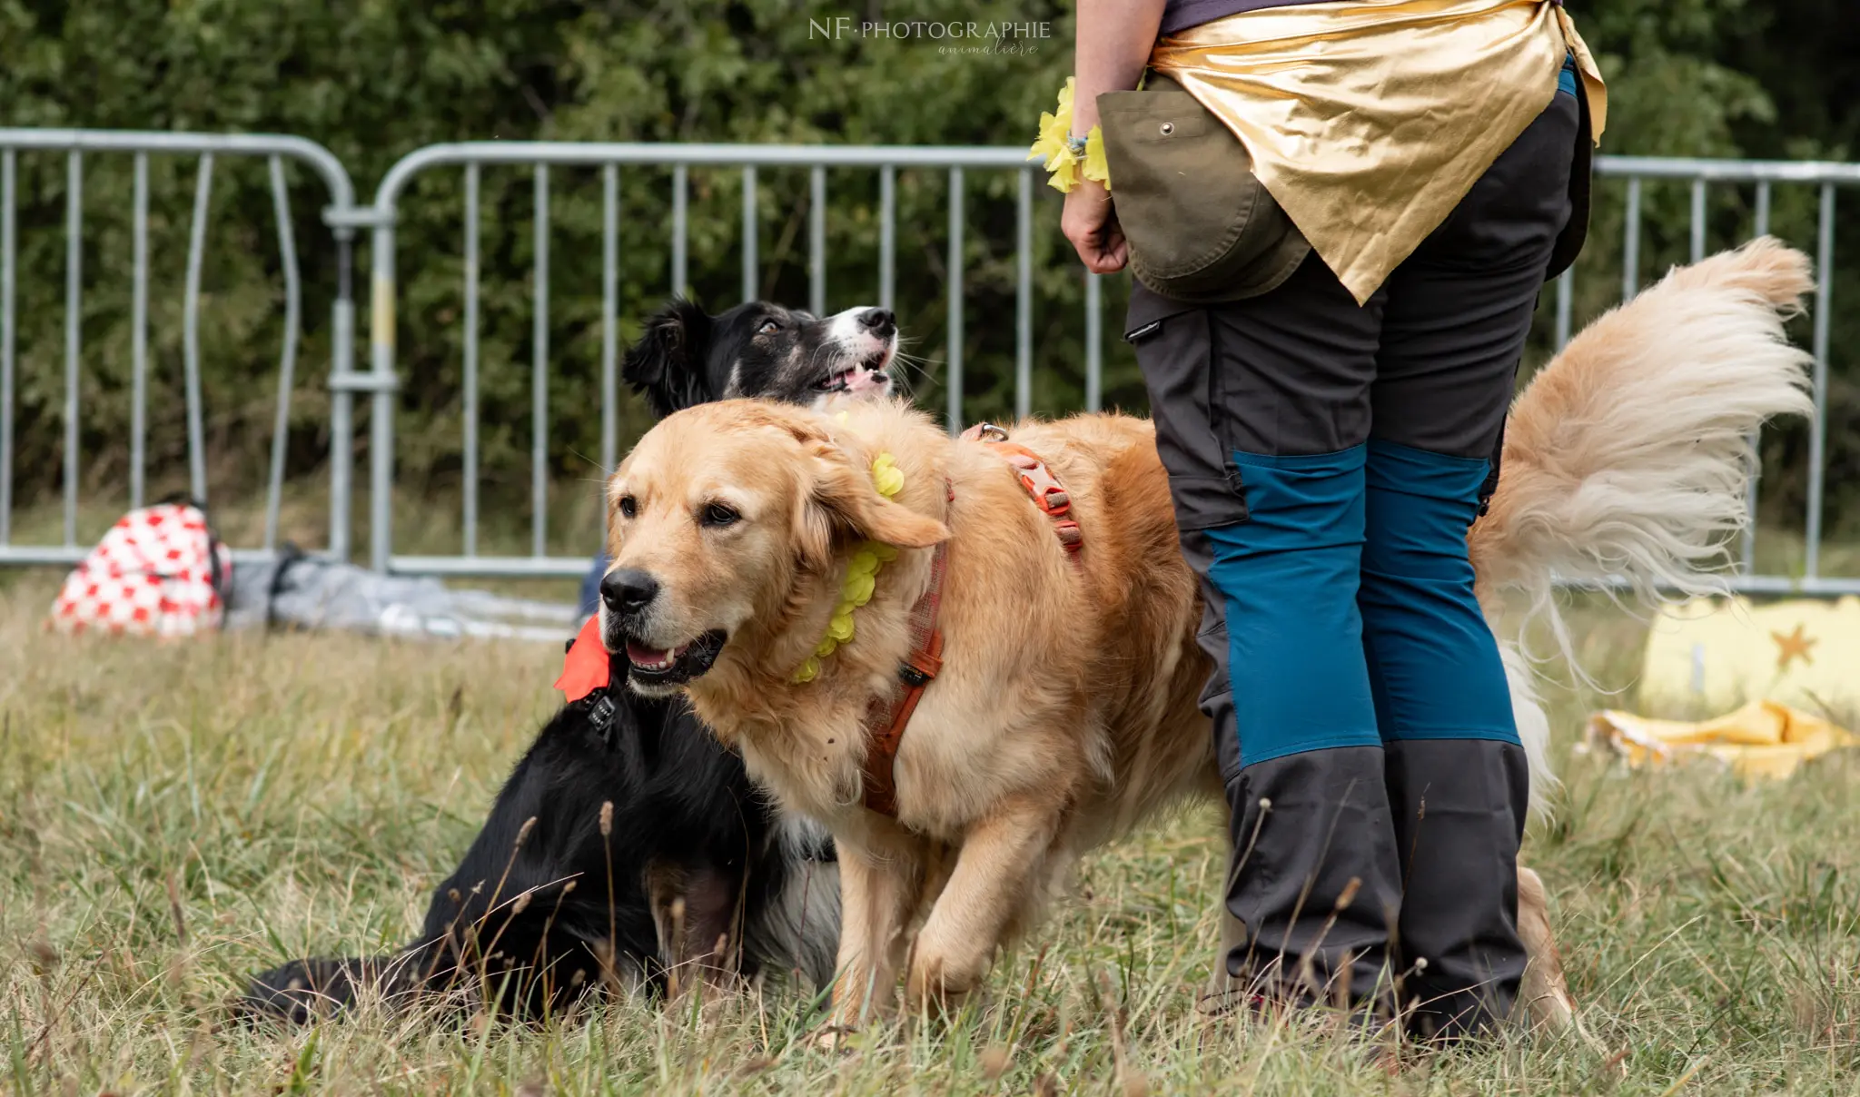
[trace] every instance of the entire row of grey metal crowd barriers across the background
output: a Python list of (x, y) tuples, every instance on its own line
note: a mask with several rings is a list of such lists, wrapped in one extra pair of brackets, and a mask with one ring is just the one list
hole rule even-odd
[[(195, 134), (104, 134), (104, 132), (50, 132), (50, 130), (0, 130), (0, 167), (4, 167), (4, 188), (0, 188), (0, 255), (4, 255), (4, 279), (0, 279), (0, 563), (63, 563), (82, 554), (82, 547), (71, 545), (71, 513), (76, 508), (76, 309), (78, 275), (74, 260), (67, 262), (67, 403), (65, 403), (65, 513), (67, 543), (58, 547), (20, 547), (7, 537), (7, 513), (11, 509), (11, 428), (13, 428), (13, 286), (15, 286), (15, 240), (13, 240), (13, 151), (50, 149), (65, 151), (73, 158), (73, 180), (80, 178), (78, 156), (87, 149), (136, 152), (140, 158), (149, 152), (195, 152), (201, 154), (201, 182), (195, 203), (195, 225), (190, 244), (190, 286), (188, 286), (188, 370), (190, 385), (197, 381), (197, 270), (199, 240), (205, 218), (205, 193), (210, 178), (214, 152), (259, 154), (273, 160), (273, 190), (277, 193), (277, 212), (281, 225), (279, 247), (288, 257), (286, 273), (286, 340), (281, 350), (279, 372), (279, 430), (273, 437), (272, 480), (266, 496), (266, 541), (257, 552), (272, 547), (275, 537), (275, 513), (281, 491), (283, 448), (281, 435), (288, 405), (288, 379), (296, 353), (296, 258), (294, 244), (288, 238), (288, 208), (277, 158), (298, 158), (309, 164), (326, 182), (331, 205), (324, 210), (324, 223), (329, 227), (331, 242), (339, 251), (340, 284), (335, 297), (333, 314), (333, 355), (331, 355), (331, 472), (329, 472), (329, 556), (348, 558), (353, 480), (350, 474), (352, 456), (352, 400), (357, 392), (370, 396), (370, 469), (368, 469), (368, 563), (379, 571), (424, 573), (424, 575), (478, 575), (478, 576), (573, 576), (586, 569), (586, 558), (547, 554), (547, 493), (549, 493), (549, 216), (551, 216), (551, 169), (586, 167), (599, 169), (603, 184), (601, 255), (603, 255), (603, 311), (601, 311), (601, 450), (603, 467), (612, 467), (619, 456), (621, 439), (618, 430), (618, 180), (623, 167), (670, 169), (671, 178), (671, 223), (670, 223), (670, 281), (668, 290), (683, 290), (688, 284), (688, 232), (690, 232), (690, 169), (737, 169), (742, 178), (742, 294), (757, 296), (759, 262), (759, 212), (757, 212), (757, 169), (804, 169), (809, 177), (807, 203), (807, 271), (809, 307), (824, 312), (826, 307), (826, 218), (828, 169), (867, 169), (878, 173), (878, 297), (880, 305), (893, 305), (897, 284), (897, 175), (898, 171), (943, 171), (949, 178), (949, 271), (947, 271), (947, 361), (945, 392), (947, 418), (952, 430), (962, 426), (963, 402), (963, 234), (967, 229), (965, 193), (967, 171), (1012, 171), (1016, 173), (1014, 205), (1014, 247), (1016, 247), (1016, 324), (1014, 324), (1014, 405), (1017, 413), (1027, 413), (1032, 394), (1034, 368), (1034, 188), (1040, 184), (1036, 165), (1025, 160), (1025, 151), (995, 147), (798, 147), (798, 145), (627, 145), (627, 143), (523, 143), (523, 141), (484, 141), (454, 143), (418, 149), (396, 162), (383, 177), (370, 206), (357, 206), (348, 186), (342, 165), (318, 145), (298, 138), (264, 136), (195, 136)], [(478, 480), (480, 480), (480, 439), (478, 439), (478, 297), (480, 297), (480, 171), (487, 165), (530, 167), (534, 177), (534, 270), (532, 270), (532, 376), (530, 376), (530, 554), (526, 556), (487, 556), (476, 550), (478, 534)], [(454, 556), (409, 556), (394, 552), (392, 526), (392, 485), (394, 485), (394, 413), (398, 402), (396, 372), (396, 221), (400, 201), (409, 182), (420, 173), (435, 167), (459, 167), (463, 173), (463, 286), (461, 318), (463, 325), (463, 498), (461, 550)], [(1776, 186), (1817, 188), (1815, 216), (1815, 258), (1823, 271), (1814, 303), (1812, 351), (1815, 359), (1814, 392), (1815, 418), (1810, 424), (1810, 469), (1806, 504), (1806, 558), (1802, 576), (1756, 575), (1752, 560), (1752, 541), (1743, 545), (1743, 567), (1732, 582), (1735, 588), (1752, 593), (1800, 591), (1800, 593), (1860, 593), (1860, 578), (1828, 578), (1819, 575), (1821, 537), (1825, 522), (1825, 467), (1827, 467), (1827, 394), (1828, 394), (1828, 340), (1832, 314), (1832, 277), (1834, 270), (1834, 212), (1836, 188), (1860, 186), (1860, 165), (1854, 164), (1800, 164), (1800, 162), (1715, 162), (1715, 160), (1663, 160), (1663, 158), (1598, 158), (1598, 175), (1603, 178), (1626, 180), (1626, 221), (1624, 221), (1624, 270), (1622, 294), (1631, 296), (1641, 286), (1641, 210), (1642, 184), (1650, 180), (1681, 180), (1691, 184), (1691, 257), (1702, 258), (1707, 244), (1707, 188), (1709, 186), (1754, 186), (1752, 234), (1769, 231), (1773, 190)], [(143, 192), (138, 192), (141, 195)], [(138, 208), (138, 225), (143, 212)], [(350, 245), (357, 229), (370, 231), (372, 292), (370, 292), (370, 355), (368, 370), (352, 368), (353, 303), (350, 294)], [(71, 197), (69, 234), (73, 240), (82, 231), (82, 210), (76, 188)], [(73, 255), (74, 244), (73, 244)], [(140, 253), (138, 253), (140, 255)], [(147, 294), (145, 268), (138, 266), (138, 301)], [(1574, 327), (1575, 271), (1566, 273), (1557, 284), (1555, 297), (1555, 337), (1562, 346)], [(138, 307), (140, 309), (140, 307)], [(138, 311), (138, 327), (141, 312)], [(1096, 409), (1103, 394), (1103, 288), (1101, 279), (1088, 275), (1084, 283), (1084, 403)], [(138, 344), (140, 346), (140, 344)], [(141, 351), (138, 351), (140, 355)], [(143, 366), (136, 366), (141, 377)], [(140, 405), (138, 392), (138, 405)], [(201, 469), (201, 433), (197, 387), (188, 390), (190, 411), (190, 469), (195, 470), (195, 487), (205, 493)], [(140, 467), (140, 437), (136, 444), (136, 465)], [(140, 476), (140, 474), (138, 474)], [(140, 480), (138, 480), (140, 483)], [(140, 493), (140, 489), (138, 489)], [(1754, 493), (1752, 493), (1754, 495)], [(1752, 502), (1754, 506), (1754, 502)], [(590, 545), (591, 547), (591, 545)]]

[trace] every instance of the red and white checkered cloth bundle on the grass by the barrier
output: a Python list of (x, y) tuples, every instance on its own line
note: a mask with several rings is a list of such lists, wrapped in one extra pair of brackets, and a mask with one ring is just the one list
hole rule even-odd
[[(214, 563), (218, 562), (218, 569)], [(219, 628), (219, 589), (232, 554), (188, 504), (160, 504), (123, 515), (84, 558), (52, 602), (60, 632), (193, 636)]]

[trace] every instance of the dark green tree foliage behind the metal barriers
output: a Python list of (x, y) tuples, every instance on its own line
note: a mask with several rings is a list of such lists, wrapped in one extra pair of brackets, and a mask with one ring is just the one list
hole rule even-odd
[[(1574, 4), (1613, 86), (1609, 152), (1845, 158), (1860, 119), (1860, 41), (1849, 0), (1594, 0)], [(995, 52), (947, 41), (831, 33), (831, 20), (1049, 24), (1049, 37)], [(1023, 145), (1071, 69), (1071, 9), (1053, 0), (846, 0), (798, 6), (634, 0), (0, 0), (0, 123), (138, 130), (281, 132), (327, 145), (366, 197), (402, 154), (435, 141), (798, 141)], [(984, 41), (984, 45), (988, 45)], [(305, 344), (294, 394), (290, 470), (327, 461), (329, 301), (335, 251), (322, 186), (292, 169), (292, 229), (303, 258)], [(766, 297), (807, 301), (807, 173), (757, 177), (759, 270)], [(219, 158), (203, 275), (203, 383), (212, 483), (219, 498), (257, 482), (270, 443), (281, 331), (281, 266), (262, 162)], [(534, 175), (482, 173), (482, 470), (485, 506), (526, 506), (532, 385)], [(56, 493), (63, 407), (65, 186), (61, 154), (19, 154), (17, 474), (22, 500)], [(154, 487), (184, 483), (182, 273), (195, 186), (192, 158), (151, 160), (151, 459)], [(549, 472), (593, 474), (601, 444), (601, 173), (554, 169), (551, 188)], [(724, 307), (740, 296), (742, 178), (690, 173), (690, 290)], [(878, 296), (876, 171), (828, 175), (828, 305)], [(963, 270), (965, 415), (1012, 409), (1016, 180), (967, 175)], [(1620, 294), (1620, 184), (1605, 182), (1592, 244), (1575, 275), (1575, 318)], [(1750, 231), (1748, 188), (1717, 188), (1709, 244)], [(898, 173), (897, 305), (941, 407), (947, 359), (945, 171)], [(619, 338), (670, 290), (670, 171), (619, 175)], [(1642, 277), (1685, 258), (1683, 184), (1648, 186)], [(1840, 236), (1860, 240), (1860, 195)], [(84, 160), (80, 469), (87, 493), (123, 495), (130, 420), (130, 164)], [(1083, 402), (1084, 283), (1058, 234), (1058, 195), (1036, 188), (1034, 407)], [(1778, 188), (1774, 229), (1814, 240), (1815, 195)], [(456, 167), (413, 180), (400, 203), (396, 463), (404, 489), (458, 491), (461, 470), (463, 182)], [(1856, 244), (1860, 247), (1860, 244)], [(357, 244), (357, 325), (365, 342), (366, 242)], [(1841, 264), (1836, 301), (1860, 299)], [(1105, 281), (1105, 402), (1142, 409), (1120, 331), (1125, 288)], [(1546, 305), (1551, 296), (1546, 294)], [(1540, 316), (1533, 361), (1551, 338)], [(1853, 314), (1853, 311), (1849, 311)], [(1860, 463), (1847, 426), (1860, 398), (1847, 374), (1860, 324), (1836, 316), (1834, 469)], [(366, 346), (357, 346), (366, 364)], [(366, 461), (366, 409), (357, 461)], [(644, 424), (631, 402), (621, 437)], [(1860, 426), (1860, 424), (1853, 424)], [(1800, 439), (1771, 446), (1778, 506), (1800, 476)], [(1836, 476), (1830, 474), (1830, 482)], [(1769, 491), (1769, 489), (1767, 489)]]

